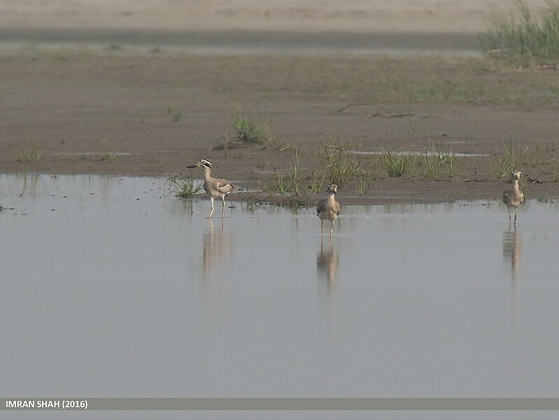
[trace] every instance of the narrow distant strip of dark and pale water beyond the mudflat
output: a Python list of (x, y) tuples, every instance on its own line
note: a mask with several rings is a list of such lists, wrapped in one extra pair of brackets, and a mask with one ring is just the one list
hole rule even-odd
[(3, 29), (0, 49), (28, 48), (80, 50), (120, 54), (192, 52), (197, 54), (358, 54), (444, 55), (481, 57), (476, 34), (409, 34), (388, 32), (323, 31), (127, 31), (111, 29)]

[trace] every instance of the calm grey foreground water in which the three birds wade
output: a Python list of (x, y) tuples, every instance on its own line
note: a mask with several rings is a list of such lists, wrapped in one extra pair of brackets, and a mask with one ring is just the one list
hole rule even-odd
[(0, 394), (557, 396), (558, 202), (516, 230), (497, 201), (344, 206), (330, 241), (163, 182), (0, 176)]

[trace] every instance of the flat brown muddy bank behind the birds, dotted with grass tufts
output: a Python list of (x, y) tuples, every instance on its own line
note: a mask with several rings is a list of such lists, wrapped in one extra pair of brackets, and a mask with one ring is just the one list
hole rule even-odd
[[(103, 54), (10, 52), (0, 60), (0, 165), (8, 173), (165, 177), (208, 158), (214, 176), (236, 181), (241, 192), (262, 191), (265, 200), (278, 174), (292, 170), (297, 150), (300, 193), (313, 201), (308, 186), (325, 171), (321, 145), (332, 136), (361, 152), (436, 145), (482, 154), (458, 158), (452, 176), (441, 172), (437, 179), (427, 179), (420, 166), (391, 178), (380, 155), (353, 155), (372, 179), (360, 189), (354, 177), (339, 190), (350, 202), (446, 202), (499, 199), (507, 183), (495, 169), (510, 144), (517, 155), (528, 148), (518, 165), (544, 181), (526, 186), (527, 197), (558, 196), (558, 106), (547, 97), (501, 97), (521, 88), (527, 96), (542, 94), (540, 87), (553, 85), (556, 72), (481, 67), (486, 65), (476, 59), (344, 54), (137, 55), (109, 47)], [(410, 102), (407, 93), (401, 99), (395, 91), (379, 97), (387, 95), (379, 91), (383, 86), (415, 92), (425, 84), (454, 84), (458, 94), (471, 85), (497, 86), (499, 96)], [(351, 103), (360, 106), (344, 109)], [(386, 118), (387, 110), (404, 117)], [(267, 127), (272, 143), (215, 150), (239, 117)]]

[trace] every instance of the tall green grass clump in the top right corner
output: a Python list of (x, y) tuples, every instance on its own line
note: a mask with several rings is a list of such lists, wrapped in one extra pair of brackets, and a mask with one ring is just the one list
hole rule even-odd
[(537, 19), (524, 0), (517, 0), (520, 18), (493, 18), (480, 37), (483, 51), (521, 66), (559, 62), (559, 0), (547, 0), (546, 4)]

